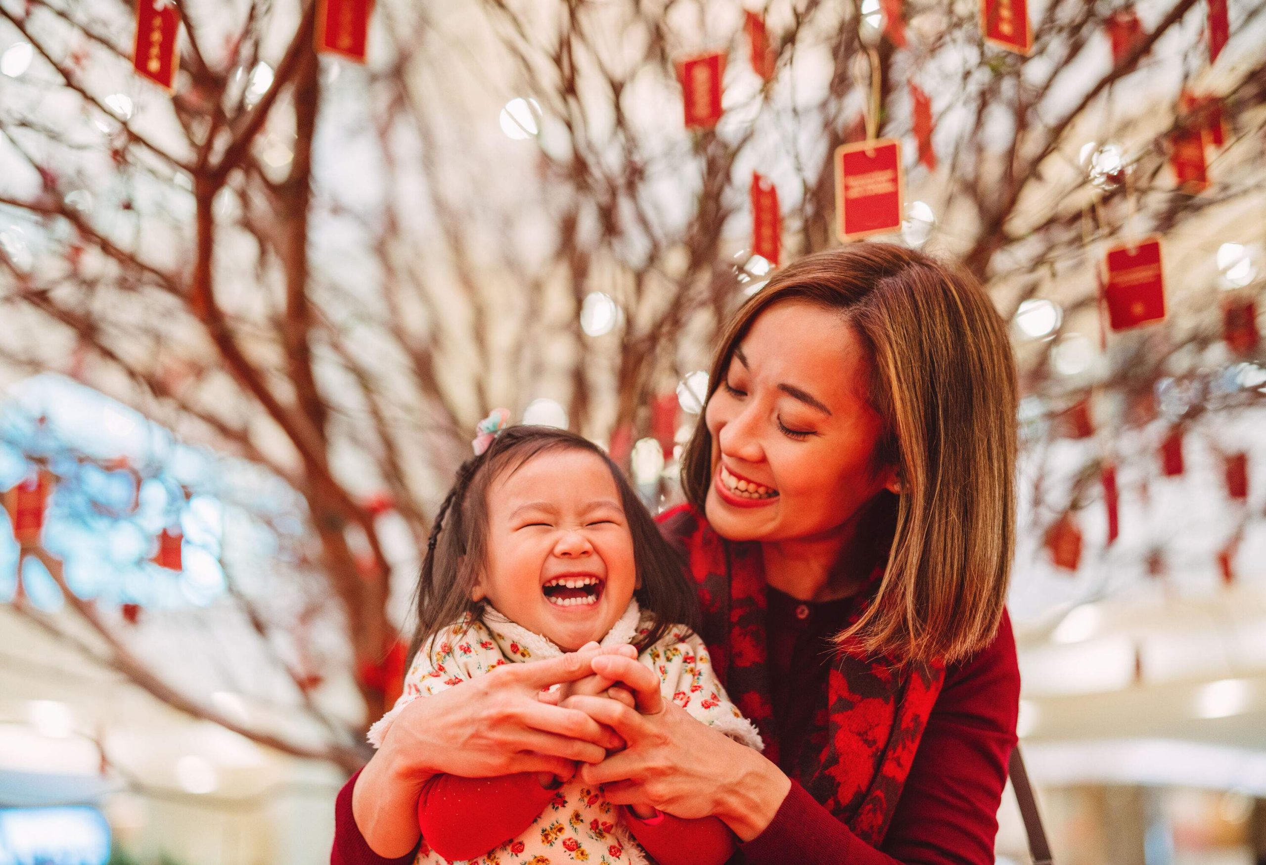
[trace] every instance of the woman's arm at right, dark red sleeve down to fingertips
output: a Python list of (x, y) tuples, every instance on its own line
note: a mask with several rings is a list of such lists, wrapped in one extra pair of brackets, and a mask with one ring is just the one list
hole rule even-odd
[(586, 781), (605, 785), (611, 802), (681, 817), (717, 814), (746, 842), (741, 849), (751, 865), (993, 864), (1019, 700), (1008, 619), (987, 648), (947, 672), (882, 850), (861, 841), (760, 754), (693, 719), (675, 723), (676, 707), (655, 705), (634, 666), (641, 667), (603, 659), (594, 669), (627, 683), (651, 713), (610, 700), (567, 703), (629, 742), (601, 764), (581, 767)]

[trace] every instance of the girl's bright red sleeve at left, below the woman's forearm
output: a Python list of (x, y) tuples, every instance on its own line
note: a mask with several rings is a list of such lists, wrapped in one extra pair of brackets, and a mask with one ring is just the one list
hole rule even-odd
[(553, 795), (536, 773), (436, 775), (418, 799), (423, 843), (448, 860), (477, 859), (522, 835)]

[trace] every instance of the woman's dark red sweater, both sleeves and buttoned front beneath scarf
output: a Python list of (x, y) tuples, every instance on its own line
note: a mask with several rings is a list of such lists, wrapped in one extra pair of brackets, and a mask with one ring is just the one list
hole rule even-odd
[[(803, 610), (800, 608), (804, 608)], [(993, 865), (998, 804), (1006, 783), (1006, 761), (1015, 745), (1019, 669), (1010, 621), (1003, 621), (994, 642), (979, 655), (946, 670), (944, 686), (898, 803), (896, 816), (876, 850), (863, 843), (809, 795), (795, 779), (796, 741), (825, 694), (823, 662), (805, 664), (832, 632), (838, 603), (800, 604), (770, 591), (766, 635), (770, 662), (785, 688), (776, 689), (776, 716), (782, 770), (791, 792), (760, 836), (742, 845), (751, 865)], [(820, 684), (815, 684), (819, 683)], [(812, 732), (812, 731), (810, 731)], [(357, 774), (358, 775), (358, 774)], [(334, 849), (330, 865), (408, 865), (415, 854), (384, 859), (370, 850), (352, 817), (353, 775), (334, 807)], [(630, 822), (630, 826), (633, 823)], [(641, 832), (638, 833), (641, 837)], [(653, 854), (652, 854), (653, 855)]]

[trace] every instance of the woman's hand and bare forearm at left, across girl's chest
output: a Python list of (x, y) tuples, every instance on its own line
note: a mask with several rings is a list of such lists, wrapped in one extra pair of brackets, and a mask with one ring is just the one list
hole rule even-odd
[(595, 646), (547, 661), (506, 664), (409, 703), (352, 790), (352, 813), (370, 847), (398, 857), (417, 845), (418, 797), (432, 775), (534, 771), (570, 778), (577, 761), (599, 762), (606, 748), (623, 745), (585, 712), (537, 699), (544, 688), (591, 675), (596, 653)]

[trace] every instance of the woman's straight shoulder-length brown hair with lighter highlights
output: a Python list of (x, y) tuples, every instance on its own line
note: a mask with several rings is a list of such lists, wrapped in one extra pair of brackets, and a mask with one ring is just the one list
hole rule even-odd
[[(872, 470), (896, 466), (901, 484), (875, 600), (837, 640), (899, 662), (962, 659), (998, 629), (1015, 540), (1015, 365), (1004, 322), (967, 271), (922, 252), (818, 252), (777, 271), (729, 322), (709, 399), (752, 322), (793, 299), (839, 312), (866, 347), (868, 399), (885, 426)], [(711, 471), (700, 414), (681, 466), (700, 513)], [(882, 509), (879, 496), (871, 504)]]

